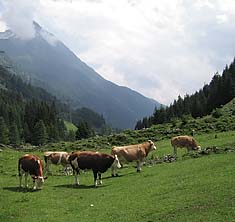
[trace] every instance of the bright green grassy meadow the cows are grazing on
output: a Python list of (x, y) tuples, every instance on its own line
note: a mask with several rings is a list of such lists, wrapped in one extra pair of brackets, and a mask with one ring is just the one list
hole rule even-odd
[[(192, 158), (182, 149), (176, 162), (147, 164), (141, 173), (130, 164), (115, 178), (108, 170), (98, 188), (90, 171), (81, 173), (75, 187), (72, 175), (64, 176), (60, 166), (53, 166), (42, 190), (19, 189), (17, 162), (26, 152), (3, 149), (0, 221), (235, 221), (235, 132), (195, 138), (202, 148), (231, 150)], [(172, 153), (169, 139), (156, 145), (149, 158)], [(39, 151), (28, 153), (42, 157)]]

